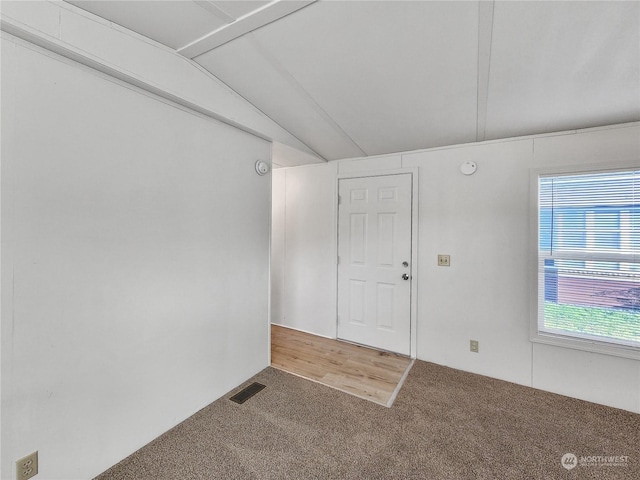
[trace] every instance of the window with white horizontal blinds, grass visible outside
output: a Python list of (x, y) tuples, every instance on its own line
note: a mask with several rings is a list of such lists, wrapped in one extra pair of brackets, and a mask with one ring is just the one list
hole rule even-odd
[(534, 339), (640, 353), (640, 169), (539, 175)]

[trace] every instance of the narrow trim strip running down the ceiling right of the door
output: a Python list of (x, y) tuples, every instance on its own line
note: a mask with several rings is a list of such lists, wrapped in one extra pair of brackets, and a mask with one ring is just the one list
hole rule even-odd
[(495, 2), (478, 2), (478, 94), (476, 141), (486, 137), (491, 42), (493, 40), (493, 8)]

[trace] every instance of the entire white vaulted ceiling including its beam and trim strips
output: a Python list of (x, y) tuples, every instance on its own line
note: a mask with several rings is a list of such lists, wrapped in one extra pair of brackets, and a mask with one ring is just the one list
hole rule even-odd
[(640, 2), (70, 1), (325, 160), (640, 120)]

